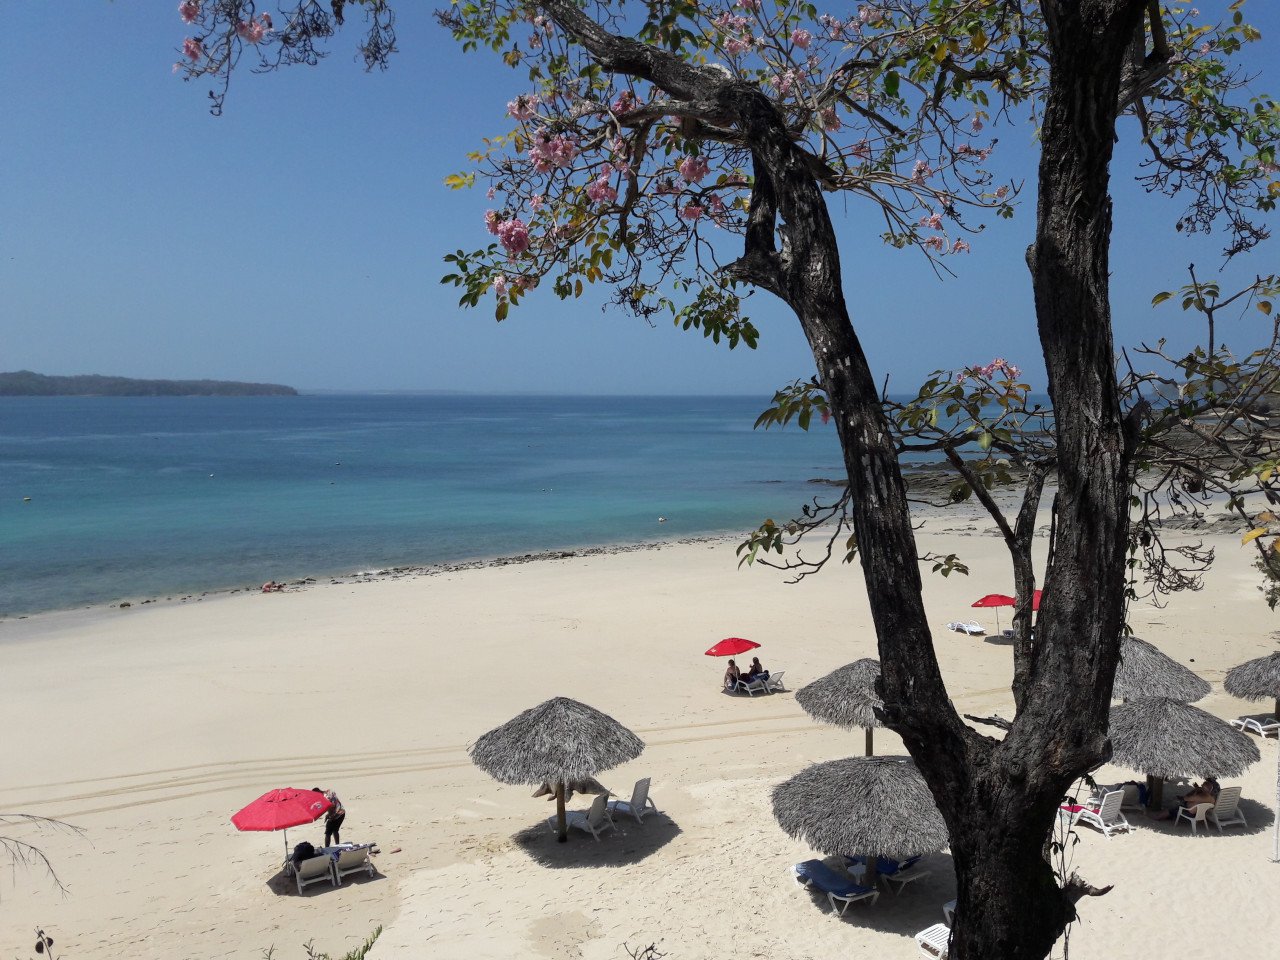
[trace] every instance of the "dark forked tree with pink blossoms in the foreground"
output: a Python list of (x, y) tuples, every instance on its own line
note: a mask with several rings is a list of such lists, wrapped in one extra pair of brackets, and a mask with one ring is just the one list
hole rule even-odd
[[(366, 65), (384, 67), (394, 51), (387, 0), (334, 3), (332, 13), (296, 6), (276, 29), (252, 4), (182, 4), (193, 27), (186, 70), (214, 79), (215, 113), (243, 54), (262, 68), (315, 63), (344, 8), (366, 15)], [(841, 442), (849, 548), (861, 562), (878, 635), (883, 721), (902, 737), (950, 833), (956, 960), (1038, 960), (1078, 901), (1102, 892), (1055, 872), (1046, 849), (1061, 797), (1111, 753), (1107, 716), (1132, 571), (1153, 559), (1142, 553), (1153, 527), (1130, 518), (1143, 506), (1139, 477), (1162, 470), (1151, 457), (1166, 417), (1196, 433), (1202, 416), (1230, 408), (1224, 398), (1236, 378), (1266, 379), (1275, 369), (1270, 321), (1262, 346), (1239, 361), (1212, 334), (1189, 361), (1157, 344), (1155, 374), (1117, 364), (1112, 342), (1108, 187), (1117, 136), (1147, 152), (1139, 180), (1148, 191), (1189, 198), (1179, 230), (1225, 225), (1228, 257), (1267, 236), (1260, 218), (1280, 193), (1280, 111), (1243, 91), (1247, 77), (1235, 65), (1260, 35), (1243, 18), (1243, 0), (1204, 6), (1212, 15), (1153, 0), (882, 0), (845, 18), (787, 0), (476, 0), (439, 14), (466, 49), (500, 55), (531, 87), (507, 105), (511, 133), (474, 155), (476, 169), (449, 178), (457, 188), (485, 180), (494, 200), (485, 224), (494, 242), (449, 257), (444, 279), (463, 305), (492, 298), (502, 320), (536, 288), (568, 300), (604, 283), (636, 315), (669, 315), (730, 347), (754, 348), (759, 332), (744, 310), (746, 292), (758, 289), (786, 303), (803, 328), (817, 376), (776, 410), (801, 425), (820, 413)], [(1052, 410), (1025, 410), (1034, 429), (1015, 426), (1028, 388), (1005, 358), (934, 378), (916, 402), (887, 407), (850, 316), (826, 198), (844, 192), (865, 201), (887, 243), (918, 251), (938, 271), (959, 269), (982, 221), (1015, 212), (1018, 182), (996, 182), (987, 163), (995, 142), (979, 136), (1002, 123), (1034, 124), (1038, 133), (1036, 236), (1025, 260)], [(1247, 294), (1266, 317), (1272, 287), (1260, 278)], [(1199, 308), (1197, 298), (1217, 294), (1193, 291), (1184, 308)], [(1155, 389), (1162, 378), (1174, 380), (1164, 384), (1174, 387), (1172, 402)], [(969, 495), (1004, 483), (1002, 467), (992, 461), (989, 477), (972, 474), (961, 443), (1007, 451), (1029, 434), (1052, 438), (1029, 461), (1015, 521), (1023, 530), (1034, 520), (1051, 475), (1034, 637), (1028, 611), (1037, 577), (1029, 562), (1015, 562), (1016, 713), (1002, 740), (965, 724), (943, 682), (922, 596), (920, 562), (931, 558), (916, 549), (902, 434), (891, 422), (932, 426), (952, 407), (972, 422), (957, 443), (937, 449)], [(1230, 421), (1252, 415), (1243, 408)], [(1208, 474), (1226, 471), (1231, 483), (1275, 494), (1274, 451), (1245, 447), (1242, 460), (1225, 438), (1208, 431), (1203, 440)], [(1165, 502), (1203, 483), (1179, 463), (1164, 470), (1156, 497)], [(1247, 541), (1272, 549), (1272, 521), (1248, 520), (1256, 526)], [(1019, 530), (1006, 540), (1019, 541)]]

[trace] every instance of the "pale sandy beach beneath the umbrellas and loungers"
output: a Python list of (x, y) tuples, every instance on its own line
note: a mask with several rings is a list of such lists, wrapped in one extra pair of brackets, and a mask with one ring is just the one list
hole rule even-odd
[[(931, 521), (924, 545), (961, 554), (972, 573), (927, 575), (927, 602), (957, 708), (1009, 716), (1009, 646), (941, 628), (978, 613), (995, 631), (991, 611), (969, 609), (1011, 589), (987, 526)], [(1213, 684), (1199, 705), (1235, 717), (1266, 705), (1224, 694), (1222, 675), (1275, 650), (1280, 623), (1239, 540), (1213, 541), (1203, 591), (1135, 607), (1132, 621)], [(0, 810), (83, 836), (8, 827), (45, 849), (67, 892), (38, 869), (0, 873), (0, 947), (27, 956), (41, 925), (68, 960), (248, 960), (273, 946), (289, 960), (311, 940), (340, 955), (381, 925), (372, 957), (616, 960), (650, 942), (672, 960), (916, 956), (910, 936), (954, 896), (948, 855), (844, 919), (791, 881), (812, 854), (777, 827), (769, 791), (861, 753), (861, 735), (810, 721), (791, 692), (723, 695), (724, 663), (703, 650), (733, 635), (762, 643), (790, 690), (877, 655), (856, 570), (787, 585), (740, 570), (730, 540), (4, 622)], [(652, 777), (663, 817), (557, 845), (552, 804), (470, 763), (468, 742), (554, 695), (645, 740), (600, 780), (627, 796)], [(1135, 814), (1128, 836), (1082, 831), (1074, 865), (1115, 890), (1083, 904), (1073, 956), (1258, 956), (1276, 942), (1277, 744), (1258, 745), (1261, 763), (1226, 781), (1244, 788), (1248, 828), (1193, 838)], [(878, 731), (877, 751), (895, 749)], [(379, 876), (302, 896), (285, 886), (280, 835), (230, 824), (279, 786), (337, 790), (343, 838), (378, 841)], [(319, 845), (321, 832), (289, 842)]]

